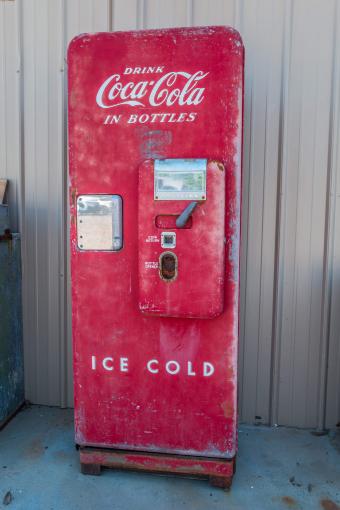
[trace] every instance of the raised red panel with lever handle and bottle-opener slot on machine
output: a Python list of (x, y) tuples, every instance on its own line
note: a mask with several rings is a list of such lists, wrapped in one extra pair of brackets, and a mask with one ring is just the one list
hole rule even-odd
[(149, 160), (139, 168), (138, 192), (140, 310), (217, 317), (224, 305), (223, 164)]

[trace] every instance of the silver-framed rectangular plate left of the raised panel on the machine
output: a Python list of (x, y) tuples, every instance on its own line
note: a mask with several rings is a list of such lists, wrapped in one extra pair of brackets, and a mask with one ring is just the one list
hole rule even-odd
[(117, 251), (122, 248), (122, 198), (119, 195), (80, 195), (77, 198), (77, 242), (80, 250)]

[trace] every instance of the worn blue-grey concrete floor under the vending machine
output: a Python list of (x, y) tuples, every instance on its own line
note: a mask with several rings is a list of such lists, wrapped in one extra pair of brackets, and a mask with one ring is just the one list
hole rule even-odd
[(70, 410), (33, 406), (0, 433), (0, 508), (7, 494), (11, 510), (340, 509), (340, 432), (241, 426), (237, 473), (225, 493), (178, 477), (81, 475), (72, 419)]

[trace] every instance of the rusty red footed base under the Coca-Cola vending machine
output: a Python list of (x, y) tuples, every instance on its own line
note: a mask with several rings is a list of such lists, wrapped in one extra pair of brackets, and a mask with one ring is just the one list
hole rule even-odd
[(88, 446), (81, 446), (79, 452), (81, 472), (85, 475), (100, 475), (102, 466), (151, 473), (172, 473), (208, 478), (211, 485), (228, 490), (235, 472), (235, 458), (215, 459)]

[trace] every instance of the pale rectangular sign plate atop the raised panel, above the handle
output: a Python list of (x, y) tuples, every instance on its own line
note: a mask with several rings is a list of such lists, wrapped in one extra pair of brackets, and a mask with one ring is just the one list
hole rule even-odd
[(206, 159), (156, 159), (155, 200), (206, 200)]

